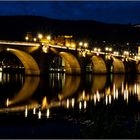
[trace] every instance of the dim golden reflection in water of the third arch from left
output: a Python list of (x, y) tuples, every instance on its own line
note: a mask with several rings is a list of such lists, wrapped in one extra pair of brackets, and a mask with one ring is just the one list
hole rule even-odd
[(96, 90), (102, 90), (105, 87), (106, 79), (106, 75), (93, 75), (91, 92), (95, 93)]

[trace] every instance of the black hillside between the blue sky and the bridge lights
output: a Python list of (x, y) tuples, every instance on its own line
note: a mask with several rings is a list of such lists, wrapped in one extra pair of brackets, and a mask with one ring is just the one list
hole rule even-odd
[(38, 16), (0, 16), (0, 40), (24, 40), (31, 32), (70, 34), (79, 39), (134, 41), (140, 40), (140, 28), (89, 20), (55, 20)]

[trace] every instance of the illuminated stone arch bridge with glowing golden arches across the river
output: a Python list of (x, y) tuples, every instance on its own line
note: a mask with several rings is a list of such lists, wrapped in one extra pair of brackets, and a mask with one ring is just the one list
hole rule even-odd
[(0, 53), (5, 51), (11, 52), (19, 58), (27, 75), (40, 75), (48, 72), (54, 55), (58, 55), (64, 60), (67, 74), (86, 72), (85, 69), (89, 63), (92, 65), (92, 73), (140, 73), (138, 59), (89, 49), (0, 40)]

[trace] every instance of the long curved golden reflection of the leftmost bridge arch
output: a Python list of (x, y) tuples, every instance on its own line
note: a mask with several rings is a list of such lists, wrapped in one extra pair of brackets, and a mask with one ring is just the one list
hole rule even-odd
[(17, 93), (17, 95), (15, 95), (15, 97), (9, 100), (9, 105), (14, 105), (29, 99), (36, 91), (39, 81), (40, 77), (38, 76), (26, 76), (24, 85), (22, 86), (21, 90)]

